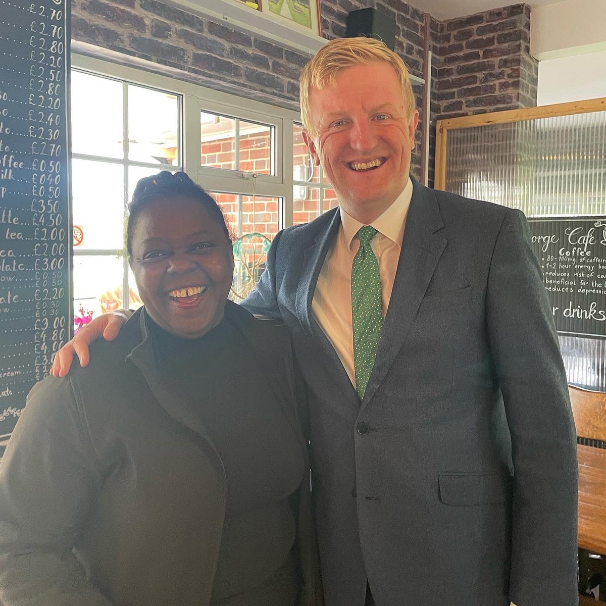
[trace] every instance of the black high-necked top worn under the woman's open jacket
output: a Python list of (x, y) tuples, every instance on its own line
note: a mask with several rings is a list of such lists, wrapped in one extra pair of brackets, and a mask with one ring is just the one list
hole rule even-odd
[(163, 381), (200, 415), (221, 456), (227, 503), (213, 606), (291, 606), (299, 578), (291, 495), (302, 445), (246, 339), (227, 318), (199, 339), (149, 322)]

